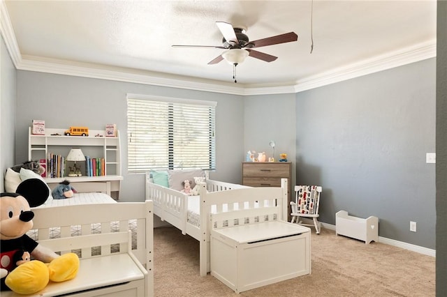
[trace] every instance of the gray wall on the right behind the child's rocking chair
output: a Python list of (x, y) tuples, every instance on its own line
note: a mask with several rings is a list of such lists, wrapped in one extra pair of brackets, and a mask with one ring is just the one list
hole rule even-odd
[[(436, 60), (296, 94), (296, 179), (323, 186), (321, 221), (379, 218), (379, 236), (435, 248)], [(410, 221), (417, 232), (409, 231)]]

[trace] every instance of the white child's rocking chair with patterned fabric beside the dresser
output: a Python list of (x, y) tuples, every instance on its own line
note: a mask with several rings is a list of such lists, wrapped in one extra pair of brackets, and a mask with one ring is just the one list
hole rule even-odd
[[(295, 185), (295, 202), (291, 201), (291, 222), (305, 226), (315, 226), (316, 234), (320, 234), (318, 208), (323, 188), (319, 185)], [(314, 224), (305, 224), (300, 218), (312, 218)]]

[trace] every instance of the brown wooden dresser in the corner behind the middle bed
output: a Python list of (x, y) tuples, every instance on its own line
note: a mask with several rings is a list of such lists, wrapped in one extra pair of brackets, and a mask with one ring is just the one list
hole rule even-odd
[(288, 217), (291, 201), (291, 162), (242, 162), (242, 185), (251, 187), (281, 187), (281, 178), (288, 183)]

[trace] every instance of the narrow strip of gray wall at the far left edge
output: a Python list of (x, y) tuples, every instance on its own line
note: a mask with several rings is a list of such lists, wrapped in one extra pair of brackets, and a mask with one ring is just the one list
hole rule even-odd
[(15, 151), (15, 67), (6, 50), (3, 36), (0, 41), (0, 189), (4, 191), (3, 177), (13, 166)]

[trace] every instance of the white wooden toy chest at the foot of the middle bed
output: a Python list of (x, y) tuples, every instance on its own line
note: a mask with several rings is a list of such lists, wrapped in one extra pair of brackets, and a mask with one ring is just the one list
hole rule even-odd
[(311, 272), (310, 229), (285, 221), (213, 229), (211, 274), (236, 293)]

